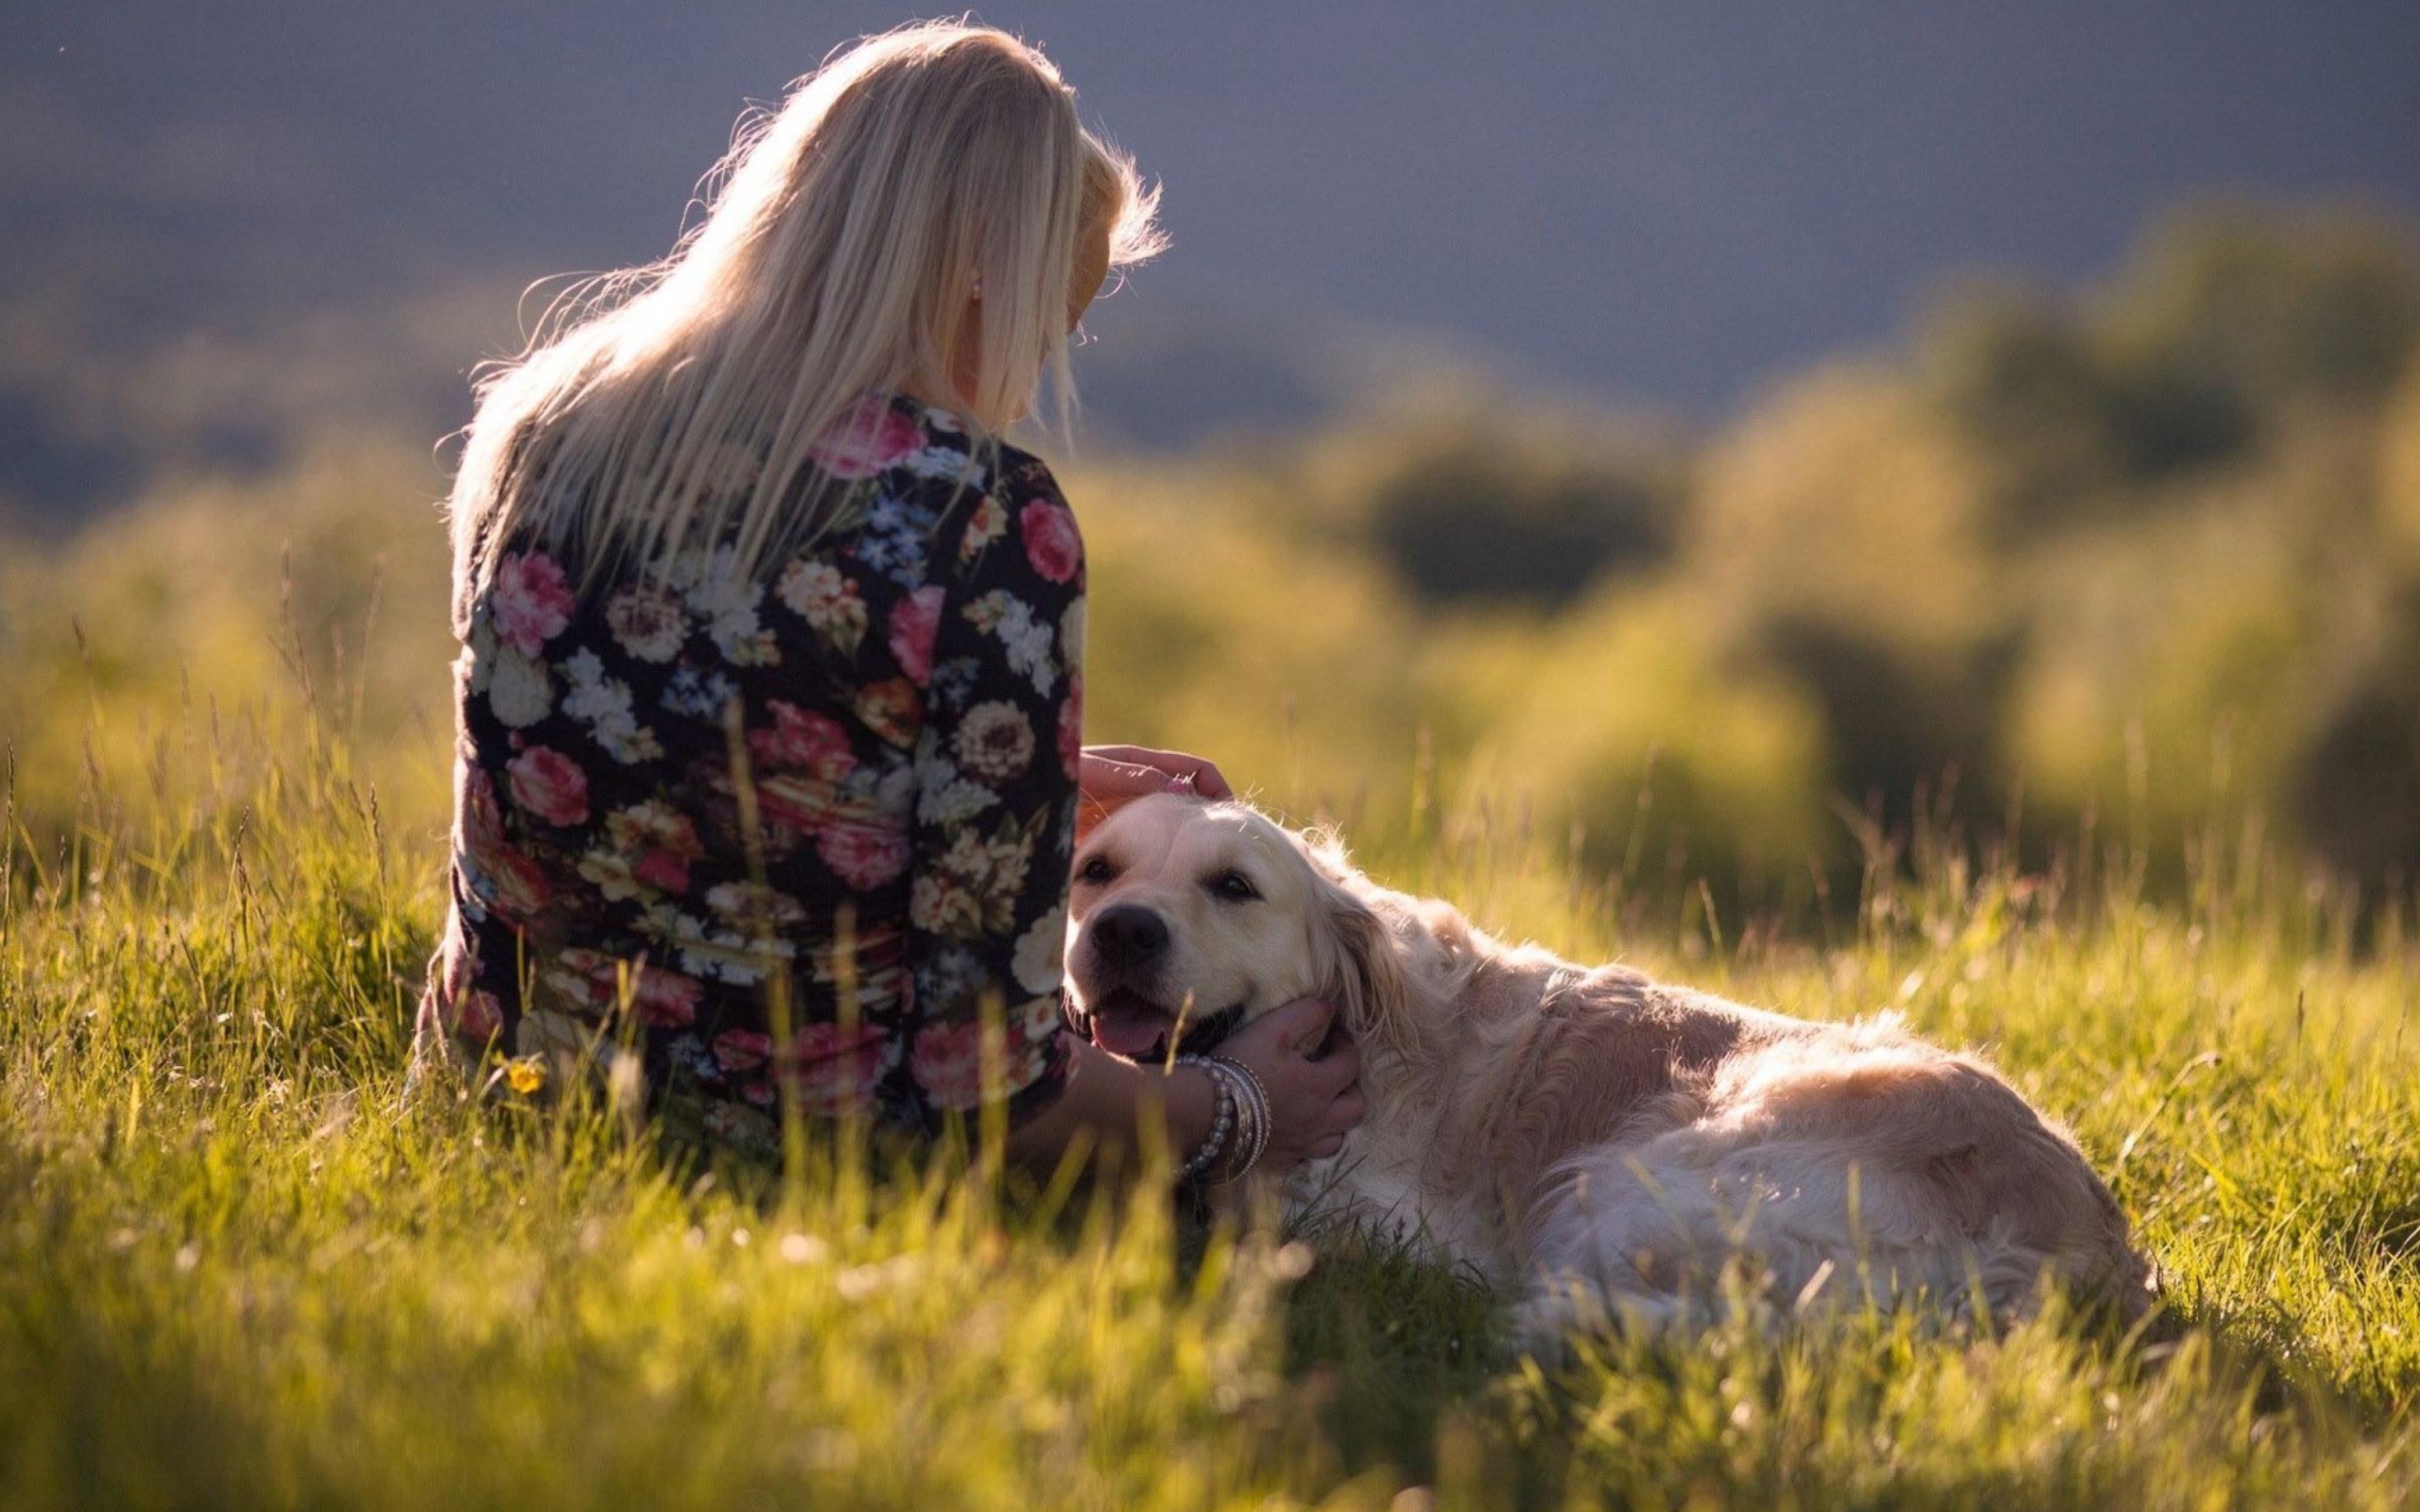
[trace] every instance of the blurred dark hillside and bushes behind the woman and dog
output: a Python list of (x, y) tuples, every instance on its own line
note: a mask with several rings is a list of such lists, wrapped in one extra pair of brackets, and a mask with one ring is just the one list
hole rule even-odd
[[(0, 24), (22, 818), (242, 767), (300, 677), (433, 844), (472, 363), (891, 19)], [(990, 19), (1176, 232), (1060, 457), (1094, 738), (1723, 914), (1822, 914), (1919, 810), (2420, 873), (2420, 12)]]

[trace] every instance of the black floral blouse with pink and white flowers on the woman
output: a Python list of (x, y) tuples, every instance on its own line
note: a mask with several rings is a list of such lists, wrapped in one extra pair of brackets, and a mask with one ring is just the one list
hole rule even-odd
[[(770, 1152), (782, 1096), (932, 1130), (1067, 1074), (1060, 951), (1084, 544), (1041, 460), (912, 399), (813, 452), (830, 527), (581, 588), (508, 552), (455, 663), (424, 1028), (515, 1086), (636, 1057), (668, 1132)], [(1002, 1033), (985, 1048), (985, 1031)]]

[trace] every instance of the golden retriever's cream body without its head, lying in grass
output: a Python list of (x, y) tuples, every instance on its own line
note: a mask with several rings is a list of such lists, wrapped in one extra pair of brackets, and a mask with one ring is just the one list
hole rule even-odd
[(1437, 1023), (1372, 1055), (1362, 1164), (1331, 1183), (1457, 1260), (1527, 1272), (1542, 1321), (1573, 1302), (1670, 1316), (1733, 1263), (1800, 1306), (1921, 1294), (2011, 1316), (2045, 1280), (2147, 1304), (2074, 1139), (1895, 1016), (1786, 1018), (1362, 895), (1399, 953), (1394, 1009)]

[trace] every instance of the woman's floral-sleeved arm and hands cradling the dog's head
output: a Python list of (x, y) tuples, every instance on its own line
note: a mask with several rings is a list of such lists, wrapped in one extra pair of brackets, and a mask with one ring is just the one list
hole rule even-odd
[[(920, 612), (927, 631), (924, 723), (915, 750), (908, 958), (915, 973), (910, 1072), (934, 1113), (975, 1091), (953, 1067), (999, 1014), (1012, 1149), (1055, 1161), (1082, 1130), (1123, 1149), (1154, 1123), (1183, 1159), (1210, 1135), (1215, 1093), (1198, 1069), (1142, 1067), (1077, 1040), (1060, 1014), (1067, 871), (1074, 854), (1082, 721), (1084, 561), (1050, 474), (1028, 462), (961, 503), (934, 532), (946, 588)], [(924, 617), (929, 614), (929, 617)], [(922, 636), (917, 636), (922, 639)], [(1183, 762), (1195, 791), (1225, 796), (1217, 767), (1142, 748), (1111, 748), (1123, 767)], [(1125, 760), (1140, 757), (1140, 760)], [(1215, 791), (1212, 791), (1215, 789)], [(1268, 1168), (1333, 1154), (1360, 1123), (1358, 1052), (1312, 1060), (1333, 1011), (1300, 1002), (1268, 1014), (1225, 1055), (1261, 1077), (1270, 1103)]]

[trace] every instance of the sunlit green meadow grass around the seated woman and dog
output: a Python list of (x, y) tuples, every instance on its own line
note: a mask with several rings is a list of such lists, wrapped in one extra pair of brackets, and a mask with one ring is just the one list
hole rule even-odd
[(1537, 1362), (1503, 1299), (1346, 1234), (963, 1152), (695, 1176), (603, 1113), (407, 1089), (436, 818), (312, 740), (10, 815), (0, 1505), (2420, 1502), (2410, 934), (2222, 847), (2166, 907), (2130, 852), (1876, 844), (1798, 941), (1481, 815), (1377, 835), (1389, 881), (1573, 956), (1992, 1048), (2166, 1275), (2137, 1338), (1738, 1321)]

